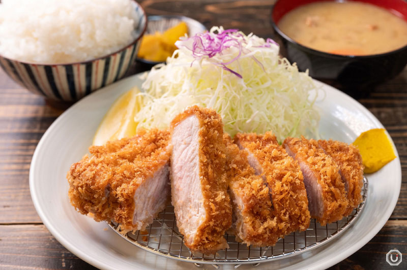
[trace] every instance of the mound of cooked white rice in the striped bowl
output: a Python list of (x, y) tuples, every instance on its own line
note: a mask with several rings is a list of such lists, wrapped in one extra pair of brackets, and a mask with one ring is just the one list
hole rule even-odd
[(134, 41), (137, 17), (131, 0), (3, 0), (0, 54), (38, 63), (95, 59)]

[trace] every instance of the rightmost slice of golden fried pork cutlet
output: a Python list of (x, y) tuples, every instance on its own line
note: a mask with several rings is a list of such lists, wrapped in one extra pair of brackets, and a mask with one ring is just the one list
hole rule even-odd
[(319, 147), (330, 155), (339, 166), (339, 174), (345, 184), (349, 207), (344, 216), (348, 216), (362, 202), (363, 164), (359, 150), (346, 143), (338, 141), (318, 141)]

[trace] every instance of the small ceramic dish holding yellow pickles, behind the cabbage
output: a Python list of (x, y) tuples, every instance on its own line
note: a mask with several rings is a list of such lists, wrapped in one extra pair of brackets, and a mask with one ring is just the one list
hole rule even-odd
[[(146, 34), (153, 34), (155, 32), (164, 32), (168, 28), (179, 24), (184, 21), (188, 26), (188, 36), (194, 36), (196, 33), (205, 32), (207, 28), (197, 20), (185, 16), (177, 15), (154, 15), (148, 17), (148, 26)], [(143, 58), (138, 58), (137, 61), (143, 63), (144, 70), (150, 70), (156, 64), (162, 63), (157, 61), (150, 61)]]

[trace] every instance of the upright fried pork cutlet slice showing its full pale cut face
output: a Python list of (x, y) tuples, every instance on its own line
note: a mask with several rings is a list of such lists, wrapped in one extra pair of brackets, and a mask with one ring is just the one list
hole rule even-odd
[(231, 205), (225, 176), (222, 119), (215, 111), (188, 108), (171, 122), (171, 197), (177, 226), (192, 251), (227, 248)]

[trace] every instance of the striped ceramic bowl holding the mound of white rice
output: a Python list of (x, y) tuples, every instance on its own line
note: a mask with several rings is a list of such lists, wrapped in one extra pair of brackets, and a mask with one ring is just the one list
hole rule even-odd
[(0, 66), (17, 83), (33, 93), (64, 102), (74, 102), (91, 92), (120, 80), (135, 62), (147, 16), (135, 3), (139, 22), (137, 38), (112, 54), (84, 62), (41, 64), (0, 55)]

